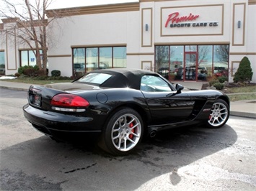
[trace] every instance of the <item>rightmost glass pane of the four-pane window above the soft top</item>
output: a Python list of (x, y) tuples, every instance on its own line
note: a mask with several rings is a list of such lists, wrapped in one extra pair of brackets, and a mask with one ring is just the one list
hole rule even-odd
[(126, 47), (113, 47), (113, 67), (126, 67)]

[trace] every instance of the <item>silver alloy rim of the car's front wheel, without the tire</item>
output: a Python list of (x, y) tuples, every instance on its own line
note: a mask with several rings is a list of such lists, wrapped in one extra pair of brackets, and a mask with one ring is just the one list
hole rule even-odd
[(211, 108), (211, 114), (209, 116), (208, 124), (214, 127), (221, 126), (226, 123), (227, 118), (229, 117), (228, 108), (224, 103), (214, 103)]

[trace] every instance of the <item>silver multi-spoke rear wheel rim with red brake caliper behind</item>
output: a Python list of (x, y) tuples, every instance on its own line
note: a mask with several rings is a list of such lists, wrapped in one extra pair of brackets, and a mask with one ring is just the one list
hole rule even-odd
[(112, 144), (121, 152), (133, 149), (138, 144), (140, 138), (141, 122), (131, 113), (120, 116), (112, 126)]

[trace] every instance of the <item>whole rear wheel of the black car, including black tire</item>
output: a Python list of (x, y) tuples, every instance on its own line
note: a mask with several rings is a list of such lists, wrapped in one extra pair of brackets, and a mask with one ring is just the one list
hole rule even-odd
[(138, 112), (131, 108), (121, 108), (107, 122), (99, 146), (113, 155), (127, 155), (136, 149), (143, 133), (144, 123)]

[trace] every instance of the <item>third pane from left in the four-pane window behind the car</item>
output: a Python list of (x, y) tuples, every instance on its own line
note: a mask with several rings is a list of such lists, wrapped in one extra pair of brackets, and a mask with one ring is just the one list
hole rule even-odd
[(112, 47), (100, 47), (100, 69), (112, 67)]

